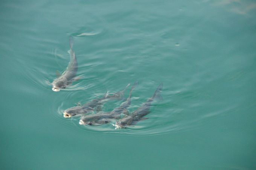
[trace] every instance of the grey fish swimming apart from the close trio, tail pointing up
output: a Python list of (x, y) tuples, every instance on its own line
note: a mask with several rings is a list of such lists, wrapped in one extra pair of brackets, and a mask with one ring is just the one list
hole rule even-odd
[(52, 82), (52, 90), (59, 92), (61, 89), (65, 89), (68, 85), (72, 84), (72, 81), (79, 80), (79, 77), (76, 77), (76, 72), (78, 71), (78, 63), (76, 60), (75, 52), (73, 51), (73, 38), (69, 38), (69, 54), (70, 62), (66, 70), (60, 75), (59, 72), (56, 72), (57, 78)]

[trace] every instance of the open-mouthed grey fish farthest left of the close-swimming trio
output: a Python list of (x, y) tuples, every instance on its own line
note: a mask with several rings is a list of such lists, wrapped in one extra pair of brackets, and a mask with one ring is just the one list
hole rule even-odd
[(94, 108), (97, 108), (96, 111), (99, 112), (101, 111), (101, 108), (104, 102), (107, 102), (108, 100), (112, 100), (112, 99), (122, 99), (123, 93), (125, 92), (128, 86), (130, 86), (130, 84), (128, 84), (123, 90), (119, 92), (110, 93), (110, 94), (106, 93), (103, 97), (98, 99), (93, 99), (92, 101), (85, 103), (84, 105), (81, 105), (81, 103), (78, 103), (75, 107), (66, 109), (63, 113), (63, 117), (68, 118), (68, 117), (83, 115), (90, 111), (93, 111)]

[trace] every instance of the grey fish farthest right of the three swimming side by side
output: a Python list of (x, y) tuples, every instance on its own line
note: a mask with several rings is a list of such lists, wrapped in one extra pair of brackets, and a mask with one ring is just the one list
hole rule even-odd
[(160, 95), (160, 92), (162, 89), (163, 89), (163, 83), (161, 83), (157, 87), (152, 97), (149, 98), (145, 103), (143, 103), (139, 108), (137, 108), (137, 110), (135, 110), (133, 113), (117, 121), (116, 124), (114, 125), (116, 127), (115, 129), (126, 128), (127, 126), (131, 125), (133, 122), (147, 119), (144, 116), (150, 113), (151, 102), (154, 101), (155, 98), (162, 99), (162, 96)]

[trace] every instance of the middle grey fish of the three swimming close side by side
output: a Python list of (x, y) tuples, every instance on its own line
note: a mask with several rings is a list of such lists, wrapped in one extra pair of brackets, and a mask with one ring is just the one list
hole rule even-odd
[(138, 81), (136, 81), (133, 86), (131, 87), (130, 94), (126, 101), (122, 102), (122, 104), (114, 108), (111, 112), (105, 113), (97, 113), (92, 115), (87, 115), (81, 117), (79, 120), (80, 125), (101, 125), (105, 123), (109, 123), (113, 119), (120, 119), (121, 114), (128, 114), (127, 108), (131, 105), (131, 94), (133, 89), (137, 86)]

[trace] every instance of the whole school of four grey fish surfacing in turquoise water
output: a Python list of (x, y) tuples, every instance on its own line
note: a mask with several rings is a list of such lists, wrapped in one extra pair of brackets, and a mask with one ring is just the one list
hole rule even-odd
[[(59, 92), (61, 89), (66, 89), (66, 87), (72, 84), (73, 81), (77, 81), (81, 78), (76, 76), (76, 73), (78, 71), (78, 62), (75, 56), (75, 52), (73, 51), (73, 38), (71, 36), (69, 38), (69, 46), (69, 65), (62, 74), (56, 72), (57, 77), (52, 82), (52, 90), (55, 92)], [(126, 99), (123, 95), (125, 90), (130, 86), (130, 84), (128, 84), (123, 90), (120, 90), (119, 92), (107, 92), (101, 98), (93, 99), (92, 101), (89, 101), (83, 105), (78, 102), (76, 106), (67, 108), (63, 112), (63, 117), (80, 117), (80, 125), (99, 126), (106, 123), (112, 123), (112, 125), (115, 126), (115, 129), (127, 128), (130, 125), (135, 125), (141, 120), (148, 119), (148, 117), (144, 116), (150, 113), (151, 102), (154, 101), (154, 99), (157, 98), (162, 100), (162, 96), (160, 93), (163, 88), (163, 83), (161, 83), (155, 90), (154, 94), (146, 102), (144, 102), (139, 108), (129, 114), (128, 108), (131, 105), (132, 92), (137, 84), (138, 81), (133, 84), (129, 96)], [(119, 107), (114, 108), (110, 112), (102, 111), (102, 106), (104, 103), (111, 100), (121, 99), (123, 100), (123, 102)]]

